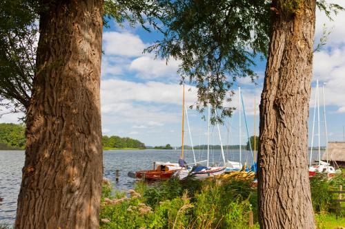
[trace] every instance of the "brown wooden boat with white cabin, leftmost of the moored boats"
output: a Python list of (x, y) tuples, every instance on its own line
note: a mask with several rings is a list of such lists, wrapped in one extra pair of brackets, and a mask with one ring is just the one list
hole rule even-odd
[[(156, 164), (157, 168), (155, 168)], [(137, 171), (135, 178), (149, 180), (170, 179), (172, 173), (180, 169), (181, 167), (177, 163), (155, 162), (152, 170)]]

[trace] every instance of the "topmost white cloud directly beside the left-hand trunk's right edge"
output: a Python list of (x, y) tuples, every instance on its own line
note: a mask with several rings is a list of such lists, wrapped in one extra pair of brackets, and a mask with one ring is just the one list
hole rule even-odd
[(148, 47), (140, 37), (128, 32), (104, 32), (103, 50), (106, 55), (141, 56)]

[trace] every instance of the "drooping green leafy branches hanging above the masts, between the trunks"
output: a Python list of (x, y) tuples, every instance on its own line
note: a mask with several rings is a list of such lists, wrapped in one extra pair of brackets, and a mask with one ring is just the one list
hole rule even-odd
[[(237, 0), (162, 1), (166, 15), (164, 39), (148, 47), (160, 58), (181, 60), (179, 74), (197, 87), (200, 111), (210, 104), (230, 116), (233, 83), (238, 78), (257, 78), (257, 58), (268, 52), (270, 3)], [(214, 112), (212, 112), (214, 113)]]

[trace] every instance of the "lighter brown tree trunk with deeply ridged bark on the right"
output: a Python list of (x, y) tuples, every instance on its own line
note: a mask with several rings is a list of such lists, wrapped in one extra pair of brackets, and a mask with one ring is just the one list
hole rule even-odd
[(269, 229), (315, 228), (307, 160), (315, 0), (289, 1), (271, 8), (260, 105), (259, 223)]

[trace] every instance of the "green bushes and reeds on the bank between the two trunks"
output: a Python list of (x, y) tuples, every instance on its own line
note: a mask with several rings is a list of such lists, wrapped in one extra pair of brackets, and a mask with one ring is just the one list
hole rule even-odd
[[(188, 184), (194, 187), (184, 190)], [(139, 182), (135, 190), (139, 197), (131, 193), (119, 204), (102, 200), (101, 228), (248, 228), (248, 211), (257, 206), (248, 182), (235, 180)]]

